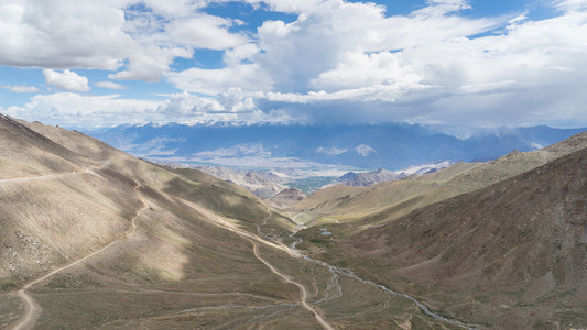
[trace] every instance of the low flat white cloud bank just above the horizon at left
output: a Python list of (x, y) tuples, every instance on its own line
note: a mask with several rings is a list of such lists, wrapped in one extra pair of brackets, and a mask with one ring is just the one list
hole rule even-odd
[[(189, 94), (170, 95), (161, 101), (123, 98), (121, 95), (87, 96), (76, 92), (37, 95), (24, 107), (9, 107), (8, 114), (65, 127), (105, 127), (170, 121), (187, 124), (290, 123), (286, 112), (250, 109), (250, 101), (220, 102)], [(228, 107), (228, 108), (227, 108)], [(171, 120), (170, 120), (171, 119)]]

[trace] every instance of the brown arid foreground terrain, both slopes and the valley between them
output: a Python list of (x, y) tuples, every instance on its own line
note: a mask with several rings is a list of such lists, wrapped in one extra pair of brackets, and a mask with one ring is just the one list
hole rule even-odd
[(280, 210), (76, 131), (0, 129), (1, 328), (587, 322), (586, 133)]

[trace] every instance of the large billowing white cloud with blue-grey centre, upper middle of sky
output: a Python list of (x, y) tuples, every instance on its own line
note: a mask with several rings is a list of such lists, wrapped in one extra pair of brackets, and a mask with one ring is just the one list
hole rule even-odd
[(427, 8), (435, 15), (420, 10), (411, 16), (385, 16), (382, 6), (340, 0), (248, 2), (297, 13), (298, 18), (291, 23), (265, 21), (258, 30), (256, 44), (226, 52), (226, 68), (171, 73), (171, 82), (184, 90), (210, 95), (236, 86), (251, 92), (289, 96), (376, 85), (420, 89), (424, 76), (400, 63), (391, 51), (475, 35), (500, 23), (447, 14), (466, 8), (463, 1), (430, 1)]

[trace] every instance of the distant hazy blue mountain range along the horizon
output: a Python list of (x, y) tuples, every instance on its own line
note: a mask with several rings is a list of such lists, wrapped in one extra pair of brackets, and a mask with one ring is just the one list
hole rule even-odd
[(584, 129), (500, 128), (479, 130), (467, 139), (458, 139), (417, 124), (206, 127), (170, 123), (116, 127), (87, 133), (151, 160), (249, 168), (334, 165), (349, 169), (400, 169), (442, 161), (493, 160), (513, 150), (537, 150), (581, 131)]

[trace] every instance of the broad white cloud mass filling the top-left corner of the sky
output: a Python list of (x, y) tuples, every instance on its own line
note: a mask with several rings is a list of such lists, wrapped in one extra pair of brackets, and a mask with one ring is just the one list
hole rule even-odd
[[(230, 20), (200, 11), (208, 1), (9, 0), (0, 4), (0, 65), (122, 70), (112, 79), (156, 81), (192, 47), (246, 42)], [(144, 10), (146, 9), (146, 10)]]

